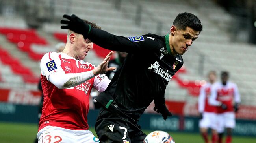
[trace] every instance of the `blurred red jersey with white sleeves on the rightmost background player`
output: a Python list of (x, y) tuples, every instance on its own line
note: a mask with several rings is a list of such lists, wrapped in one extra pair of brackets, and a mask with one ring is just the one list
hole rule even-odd
[(233, 102), (240, 103), (240, 101), (240, 94), (235, 83), (227, 82), (226, 85), (223, 85), (218, 82), (213, 85), (210, 97), (211, 105), (220, 105), (221, 103), (227, 105), (226, 110), (220, 106), (217, 107), (217, 113), (234, 111)]

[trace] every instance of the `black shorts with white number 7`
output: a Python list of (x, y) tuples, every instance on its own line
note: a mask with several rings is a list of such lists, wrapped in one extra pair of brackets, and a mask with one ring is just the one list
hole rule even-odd
[(147, 136), (137, 123), (131, 123), (124, 113), (101, 109), (95, 131), (102, 143), (143, 143)]

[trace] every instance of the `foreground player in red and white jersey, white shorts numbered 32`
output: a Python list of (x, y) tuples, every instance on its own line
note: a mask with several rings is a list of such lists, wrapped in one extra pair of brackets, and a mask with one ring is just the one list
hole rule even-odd
[(92, 48), (93, 43), (89, 39), (69, 30), (63, 52), (49, 52), (41, 59), (44, 101), (38, 143), (99, 142), (88, 130), (89, 95), (92, 88), (102, 92), (108, 87), (110, 80), (103, 73), (115, 67), (107, 67), (113, 52), (109, 52), (97, 67), (84, 62)]

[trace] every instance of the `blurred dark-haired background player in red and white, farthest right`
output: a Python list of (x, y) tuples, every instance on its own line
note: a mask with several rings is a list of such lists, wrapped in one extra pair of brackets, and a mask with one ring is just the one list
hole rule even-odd
[(226, 143), (231, 143), (232, 129), (236, 125), (235, 112), (238, 110), (241, 99), (237, 85), (228, 81), (228, 72), (221, 72), (221, 82), (213, 85), (209, 101), (211, 105), (217, 106), (219, 143), (222, 143), (225, 128), (227, 129)]

